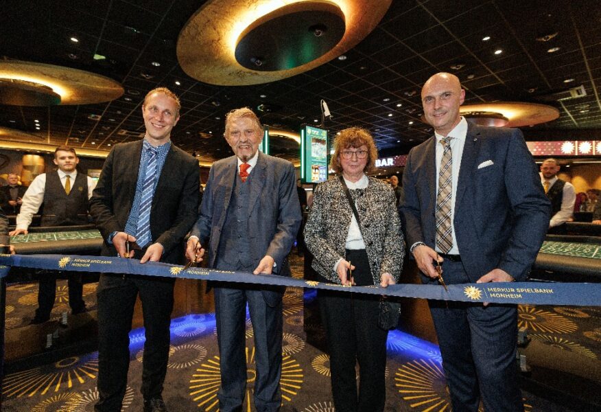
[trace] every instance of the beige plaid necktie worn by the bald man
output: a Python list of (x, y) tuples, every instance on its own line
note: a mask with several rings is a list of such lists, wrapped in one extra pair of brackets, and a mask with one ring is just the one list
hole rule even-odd
[(453, 193), (453, 156), (451, 153), (452, 137), (443, 137), (443, 158), (440, 160), (438, 173), (438, 195), (436, 196), (436, 246), (443, 253), (453, 247), (451, 234), (451, 194)]

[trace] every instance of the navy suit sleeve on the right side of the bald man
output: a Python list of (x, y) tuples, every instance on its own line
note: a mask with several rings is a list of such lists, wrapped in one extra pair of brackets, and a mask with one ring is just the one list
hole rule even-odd
[(513, 219), (512, 234), (498, 267), (521, 281), (541, 249), (551, 209), (534, 159), (518, 129), (512, 129), (504, 170)]

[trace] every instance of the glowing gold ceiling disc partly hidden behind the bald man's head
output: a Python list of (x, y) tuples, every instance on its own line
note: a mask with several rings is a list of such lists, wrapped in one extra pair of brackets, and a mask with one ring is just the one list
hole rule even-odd
[(559, 117), (558, 109), (547, 104), (524, 103), (524, 102), (495, 102), (482, 104), (468, 104), (459, 108), (461, 115), (478, 119), (486, 119), (486, 113), (490, 119), (506, 119), (506, 127), (532, 126), (551, 122)]

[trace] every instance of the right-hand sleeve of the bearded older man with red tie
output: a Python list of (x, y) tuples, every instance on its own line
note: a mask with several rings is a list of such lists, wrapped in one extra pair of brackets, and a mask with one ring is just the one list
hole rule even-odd
[[(283, 260), (290, 253), (300, 227), (300, 221), (303, 220), (303, 216), (300, 215), (300, 207), (298, 207), (294, 165), (287, 163), (284, 167), (285, 170), (279, 181), (278, 189), (279, 214), (277, 227), (265, 253), (274, 259), (278, 267), (281, 266)], [(279, 268), (276, 271), (279, 271)]]

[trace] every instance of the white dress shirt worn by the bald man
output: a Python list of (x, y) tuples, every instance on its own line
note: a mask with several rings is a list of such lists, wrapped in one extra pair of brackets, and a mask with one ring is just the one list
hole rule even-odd
[[(453, 163), (451, 167), (451, 182), (453, 190), (451, 192), (451, 235), (453, 236), (453, 247), (447, 253), (449, 255), (459, 255), (459, 248), (457, 247), (457, 238), (455, 237), (455, 197), (457, 194), (457, 183), (459, 181), (459, 169), (461, 167), (461, 158), (463, 157), (463, 146), (465, 146), (465, 137), (467, 136), (467, 121), (464, 117), (461, 117), (460, 122), (449, 132), (451, 139), (451, 155), (453, 157)], [(440, 144), (440, 139), (443, 139), (443, 135), (434, 133), (436, 137), (436, 194), (438, 194), (438, 179), (440, 174), (440, 161), (443, 160), (443, 152), (445, 148)], [(440, 252), (438, 247), (436, 251)]]

